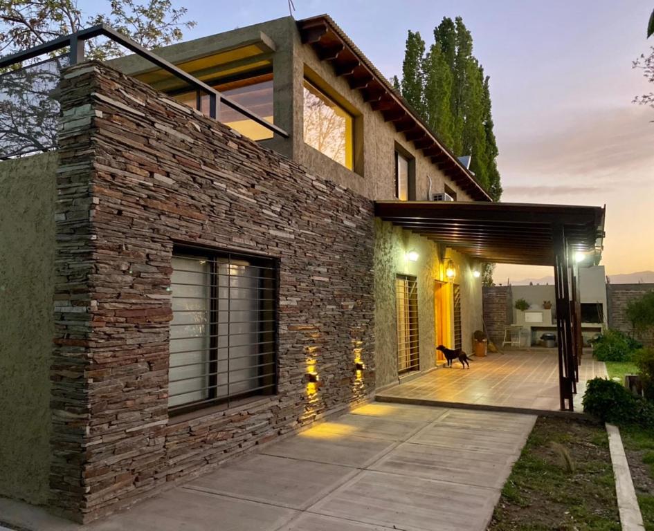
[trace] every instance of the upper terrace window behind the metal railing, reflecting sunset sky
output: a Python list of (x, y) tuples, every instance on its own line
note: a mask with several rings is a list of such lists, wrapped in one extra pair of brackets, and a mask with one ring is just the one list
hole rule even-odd
[[(249, 75), (228, 82), (210, 84), (217, 91), (229, 96), (235, 102), (246, 109), (260, 115), (265, 120), (273, 123), (273, 74)], [(197, 109), (198, 94), (196, 91), (186, 92), (175, 96), (177, 100)], [(200, 97), (199, 109), (208, 115), (209, 98), (206, 95)], [(252, 140), (266, 140), (273, 138), (273, 131), (257, 124), (246, 115), (235, 111), (226, 104), (219, 108), (220, 122), (232, 129), (239, 131), (243, 136)]]

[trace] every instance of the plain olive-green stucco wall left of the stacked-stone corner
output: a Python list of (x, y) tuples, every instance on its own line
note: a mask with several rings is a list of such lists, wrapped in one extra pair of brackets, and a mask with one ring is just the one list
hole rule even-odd
[(48, 494), (57, 154), (0, 162), (0, 496)]

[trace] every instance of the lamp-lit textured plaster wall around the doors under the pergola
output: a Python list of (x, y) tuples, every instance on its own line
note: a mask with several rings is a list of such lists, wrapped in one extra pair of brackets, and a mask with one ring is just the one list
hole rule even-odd
[[(435, 366), (434, 287), (436, 280), (444, 278), (439, 247), (432, 241), (379, 218), (375, 219), (374, 233), (375, 381), (379, 388), (398, 381), (395, 277), (397, 274), (417, 277), (421, 371)], [(410, 250), (418, 252), (417, 261), (406, 259)], [(461, 286), (462, 297), (463, 348), (470, 351), (473, 331), (482, 328), (481, 282), (473, 277), (471, 263), (462, 254), (447, 250), (445, 261), (448, 259), (457, 267), (456, 282)], [(450, 297), (451, 293), (448, 289)]]

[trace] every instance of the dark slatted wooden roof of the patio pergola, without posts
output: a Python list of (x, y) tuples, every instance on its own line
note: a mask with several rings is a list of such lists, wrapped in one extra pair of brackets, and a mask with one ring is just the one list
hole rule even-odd
[[(599, 263), (603, 207), (377, 201), (375, 215), (484, 262), (555, 265), (557, 235)], [(562, 231), (562, 232), (561, 232)], [(590, 261), (589, 261), (590, 262)]]

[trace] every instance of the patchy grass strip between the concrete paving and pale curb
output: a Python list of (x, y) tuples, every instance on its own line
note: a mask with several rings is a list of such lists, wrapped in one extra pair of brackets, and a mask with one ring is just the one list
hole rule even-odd
[(620, 531), (604, 427), (538, 418), (488, 529)]

